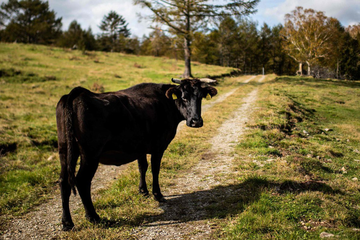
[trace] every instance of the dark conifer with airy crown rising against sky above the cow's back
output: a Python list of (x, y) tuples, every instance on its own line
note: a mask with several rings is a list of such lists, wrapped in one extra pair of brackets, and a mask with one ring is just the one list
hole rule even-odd
[(110, 51), (115, 50), (116, 44), (119, 40), (130, 36), (130, 30), (127, 28), (128, 23), (125, 19), (117, 14), (115, 11), (110, 11), (108, 15), (105, 15), (99, 28), (103, 31), (103, 41), (110, 41)]

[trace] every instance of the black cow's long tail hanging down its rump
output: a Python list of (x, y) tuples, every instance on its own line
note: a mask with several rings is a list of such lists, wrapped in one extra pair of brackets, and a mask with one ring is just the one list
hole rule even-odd
[(73, 132), (73, 100), (82, 92), (83, 88), (76, 87), (74, 88), (68, 97), (68, 100), (65, 104), (64, 109), (64, 115), (65, 115), (65, 126), (66, 126), (66, 139), (67, 139), (67, 147), (68, 147), (68, 153), (67, 153), (67, 167), (68, 167), (68, 182), (72, 188), (72, 192), (74, 195), (76, 195), (76, 189), (75, 189), (75, 168), (76, 168), (76, 162), (77, 158), (73, 156), (73, 149), (74, 149), (74, 132)]

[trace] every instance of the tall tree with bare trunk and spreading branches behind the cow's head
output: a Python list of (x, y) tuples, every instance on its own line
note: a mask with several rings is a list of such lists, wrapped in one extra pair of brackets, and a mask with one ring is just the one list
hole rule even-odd
[(185, 70), (182, 77), (191, 77), (191, 42), (193, 34), (204, 29), (219, 16), (248, 15), (255, 12), (259, 0), (134, 0), (153, 12), (153, 22), (167, 26), (166, 31), (183, 39)]

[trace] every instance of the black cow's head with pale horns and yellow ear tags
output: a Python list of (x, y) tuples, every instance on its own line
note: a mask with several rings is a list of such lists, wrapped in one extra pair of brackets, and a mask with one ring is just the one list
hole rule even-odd
[(171, 79), (179, 86), (172, 87), (166, 92), (166, 97), (173, 99), (186, 119), (186, 125), (192, 128), (201, 128), (203, 119), (201, 118), (201, 100), (206, 98), (210, 100), (217, 94), (216, 88), (208, 83), (216, 82), (209, 78), (194, 79)]

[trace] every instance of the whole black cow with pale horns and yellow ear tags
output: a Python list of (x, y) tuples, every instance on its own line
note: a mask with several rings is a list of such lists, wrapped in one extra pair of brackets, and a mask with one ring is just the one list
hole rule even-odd
[[(215, 80), (172, 79), (171, 84), (142, 83), (118, 92), (93, 93), (76, 87), (56, 107), (61, 163), (60, 189), (63, 230), (74, 227), (69, 208), (71, 190), (79, 191), (86, 217), (99, 221), (90, 196), (91, 180), (99, 163), (120, 166), (138, 160), (139, 191), (148, 195), (145, 182), (146, 154), (151, 154), (152, 194), (165, 202), (160, 192), (161, 158), (182, 120), (193, 128), (203, 126), (202, 98), (217, 94), (207, 83)], [(80, 156), (80, 169), (75, 166)]]

